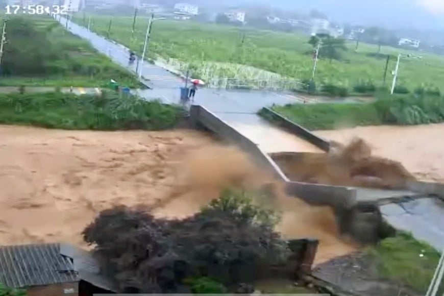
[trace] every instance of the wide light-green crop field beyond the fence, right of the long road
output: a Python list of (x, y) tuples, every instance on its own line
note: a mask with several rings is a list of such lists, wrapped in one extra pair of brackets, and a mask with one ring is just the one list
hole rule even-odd
[[(92, 16), (91, 29), (141, 52), (147, 19), (137, 18), (135, 37), (132, 38), (132, 17), (113, 17), (108, 34), (110, 18)], [(86, 26), (87, 18), (79, 15), (75, 21)], [(242, 43), (243, 34), (245, 38)], [(241, 71), (236, 68), (236, 65), (242, 64), (277, 73), (281, 77), (308, 80), (313, 66), (313, 48), (307, 43), (308, 39), (308, 36), (295, 33), (159, 20), (153, 25), (150, 55), (159, 55), (176, 64), (191, 63), (192, 68), (196, 68), (204, 79), (245, 78), (248, 76), (245, 72), (251, 72), (251, 69)], [(374, 57), (376, 45), (360, 44), (357, 52), (354, 43), (347, 43), (347, 47), (341, 61), (319, 61), (316, 73), (318, 85), (343, 86), (350, 90), (365, 84), (380, 87), (384, 85), (386, 56), (390, 55), (385, 83), (388, 87), (391, 81), (390, 72), (394, 69), (398, 53), (407, 53), (392, 47), (382, 47), (381, 55), (377, 58)], [(440, 81), (444, 79), (444, 57), (421, 55), (424, 56), (422, 60), (402, 60), (398, 79), (400, 86), (413, 90), (417, 87), (435, 88), (441, 85)], [(221, 67), (220, 63), (227, 64)], [(257, 78), (257, 74), (252, 73), (251, 78)]]

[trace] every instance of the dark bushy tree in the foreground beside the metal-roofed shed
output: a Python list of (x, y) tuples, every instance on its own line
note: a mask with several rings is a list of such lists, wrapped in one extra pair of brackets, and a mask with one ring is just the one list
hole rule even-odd
[(83, 236), (96, 245), (95, 254), (123, 291), (189, 293), (183, 284), (189, 278), (208, 277), (234, 288), (252, 283), (270, 262), (284, 262), (289, 253), (273, 230), (277, 221), (276, 214), (252, 203), (251, 194), (226, 190), (182, 220), (126, 207), (105, 210)]

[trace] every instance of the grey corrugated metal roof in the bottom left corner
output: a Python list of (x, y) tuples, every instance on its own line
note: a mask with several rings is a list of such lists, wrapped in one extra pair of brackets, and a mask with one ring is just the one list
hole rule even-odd
[(0, 283), (22, 288), (77, 282), (71, 259), (60, 254), (59, 243), (0, 246)]

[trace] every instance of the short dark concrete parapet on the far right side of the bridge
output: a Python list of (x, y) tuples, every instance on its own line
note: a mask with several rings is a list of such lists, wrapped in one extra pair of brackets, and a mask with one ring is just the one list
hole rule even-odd
[(319, 147), (319, 149), (322, 149), (326, 152), (330, 150), (330, 142), (329, 141), (316, 136), (315, 134), (313, 134), (309, 130), (296, 124), (295, 122), (291, 121), (290, 119), (276, 113), (275, 111), (264, 107), (261, 109), (261, 111), (259, 111), (259, 114), (261, 116), (263, 116), (265, 119), (284, 128), (288, 132), (290, 132), (294, 135), (297, 135), (298, 137), (306, 139), (307, 141), (309, 141), (313, 145)]

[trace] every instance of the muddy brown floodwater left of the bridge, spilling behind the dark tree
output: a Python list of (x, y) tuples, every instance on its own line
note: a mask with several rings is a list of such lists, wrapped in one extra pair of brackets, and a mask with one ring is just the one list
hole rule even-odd
[[(0, 243), (65, 241), (101, 210), (154, 205), (156, 214), (198, 211), (228, 184), (255, 188), (274, 182), (233, 147), (190, 130), (59, 131), (0, 126)], [(317, 237), (316, 262), (356, 250), (338, 238), (329, 208), (289, 198), (276, 185), (274, 206), (286, 237)]]

